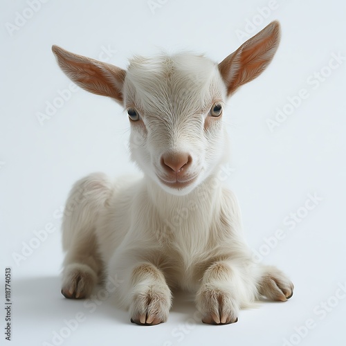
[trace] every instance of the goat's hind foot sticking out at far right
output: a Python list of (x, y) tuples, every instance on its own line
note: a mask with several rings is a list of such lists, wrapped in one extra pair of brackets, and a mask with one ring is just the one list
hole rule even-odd
[(260, 280), (257, 283), (258, 292), (269, 300), (285, 302), (293, 295), (294, 286), (288, 277), (275, 266), (260, 264)]

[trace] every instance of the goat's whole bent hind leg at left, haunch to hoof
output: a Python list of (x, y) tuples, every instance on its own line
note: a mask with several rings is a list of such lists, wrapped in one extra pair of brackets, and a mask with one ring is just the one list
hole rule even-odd
[(100, 173), (86, 176), (71, 190), (62, 223), (63, 246), (67, 251), (62, 294), (66, 298), (87, 298), (102, 278), (103, 262), (98, 253), (95, 226), (112, 191), (107, 177)]

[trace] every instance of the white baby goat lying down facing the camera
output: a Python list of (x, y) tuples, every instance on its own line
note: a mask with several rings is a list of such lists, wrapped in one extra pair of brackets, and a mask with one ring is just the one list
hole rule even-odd
[(228, 156), (224, 102), (262, 73), (279, 42), (273, 21), (220, 64), (181, 53), (134, 57), (127, 71), (53, 46), (73, 82), (125, 107), (131, 158), (144, 173), (75, 183), (62, 225), (66, 298), (88, 297), (106, 268), (138, 325), (167, 320), (173, 289), (196, 293), (202, 321), (216, 325), (236, 322), (261, 296), (291, 297), (281, 271), (254, 262), (235, 196), (217, 181)]

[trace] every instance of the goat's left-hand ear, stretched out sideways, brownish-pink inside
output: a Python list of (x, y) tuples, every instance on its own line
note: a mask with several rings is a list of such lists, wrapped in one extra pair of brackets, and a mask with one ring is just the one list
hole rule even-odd
[(123, 103), (122, 87), (126, 71), (105, 62), (83, 57), (52, 46), (57, 63), (62, 71), (86, 91), (109, 96)]

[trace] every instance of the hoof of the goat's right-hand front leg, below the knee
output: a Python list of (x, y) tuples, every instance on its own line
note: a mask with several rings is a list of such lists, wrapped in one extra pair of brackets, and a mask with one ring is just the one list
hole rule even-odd
[(239, 307), (230, 293), (221, 289), (201, 289), (197, 294), (197, 307), (202, 322), (208, 325), (229, 325), (238, 321)]

